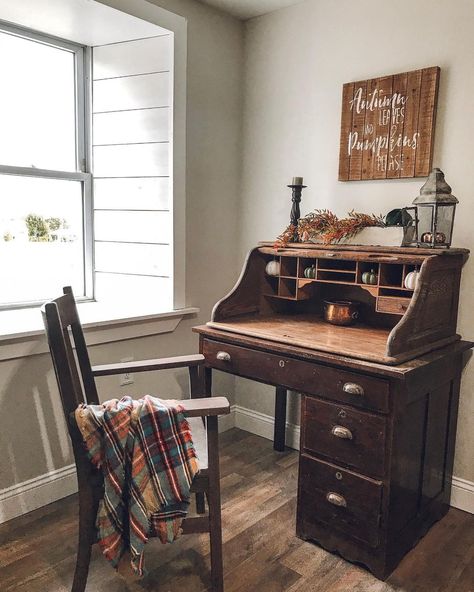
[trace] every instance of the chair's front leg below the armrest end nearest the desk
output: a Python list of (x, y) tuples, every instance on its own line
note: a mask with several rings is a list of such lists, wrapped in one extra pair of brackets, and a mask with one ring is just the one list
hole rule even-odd
[(221, 492), (219, 476), (219, 452), (217, 417), (207, 418), (207, 440), (209, 451), (209, 534), (211, 543), (211, 590), (224, 591), (224, 570), (222, 564)]

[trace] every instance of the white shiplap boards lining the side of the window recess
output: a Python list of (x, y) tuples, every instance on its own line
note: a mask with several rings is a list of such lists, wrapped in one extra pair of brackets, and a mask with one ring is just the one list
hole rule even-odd
[(173, 307), (173, 36), (93, 48), (96, 295)]

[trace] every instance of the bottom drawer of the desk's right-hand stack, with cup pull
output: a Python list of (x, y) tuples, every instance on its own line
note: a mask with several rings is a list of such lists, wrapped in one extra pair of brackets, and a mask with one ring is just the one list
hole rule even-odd
[[(376, 547), (380, 540), (381, 481), (337, 465), (300, 457), (298, 520), (327, 524)], [(308, 528), (306, 528), (308, 530)]]

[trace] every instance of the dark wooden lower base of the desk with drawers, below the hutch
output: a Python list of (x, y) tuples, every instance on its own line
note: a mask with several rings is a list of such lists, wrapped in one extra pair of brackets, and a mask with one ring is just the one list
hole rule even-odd
[(297, 534), (385, 579), (449, 509), (463, 353), (473, 344), (387, 366), (194, 330), (207, 394), (213, 369), (276, 386), (276, 450), (285, 446), (287, 389), (304, 393)]

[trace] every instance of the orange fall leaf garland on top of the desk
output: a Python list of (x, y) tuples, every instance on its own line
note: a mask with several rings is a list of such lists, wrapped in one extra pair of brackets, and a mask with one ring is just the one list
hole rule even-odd
[(347, 218), (338, 218), (330, 210), (314, 210), (300, 218), (298, 226), (290, 224), (277, 237), (275, 248), (286, 247), (293, 241), (295, 233), (301, 242), (321, 240), (324, 244), (330, 244), (351, 238), (370, 226), (384, 227), (383, 217), (352, 210)]

